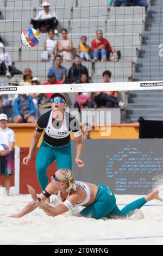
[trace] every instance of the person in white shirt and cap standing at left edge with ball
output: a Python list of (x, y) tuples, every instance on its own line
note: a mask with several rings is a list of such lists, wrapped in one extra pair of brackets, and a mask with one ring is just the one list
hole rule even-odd
[(0, 114), (0, 144), (8, 147), (7, 150), (0, 151), (0, 186), (1, 176), (5, 176), (6, 194), (9, 196), (11, 175), (14, 172), (14, 154), (15, 133), (7, 127), (8, 117), (6, 114)]

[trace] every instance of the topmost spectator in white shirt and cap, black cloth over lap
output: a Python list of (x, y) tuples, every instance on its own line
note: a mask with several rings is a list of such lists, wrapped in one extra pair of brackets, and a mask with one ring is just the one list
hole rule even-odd
[(31, 21), (31, 23), (34, 25), (35, 29), (39, 28), (42, 33), (45, 33), (49, 29), (53, 29), (54, 33), (58, 34), (58, 17), (54, 10), (49, 9), (50, 5), (51, 4), (49, 2), (43, 2), (41, 4), (41, 7), (43, 7), (44, 10), (39, 11), (35, 19)]

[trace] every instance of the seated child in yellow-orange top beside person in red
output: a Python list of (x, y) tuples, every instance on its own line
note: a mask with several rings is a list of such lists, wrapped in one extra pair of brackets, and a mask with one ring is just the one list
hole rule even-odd
[(80, 58), (90, 60), (89, 51), (90, 46), (86, 44), (87, 38), (85, 35), (81, 37), (81, 44), (78, 45), (78, 53), (80, 54)]

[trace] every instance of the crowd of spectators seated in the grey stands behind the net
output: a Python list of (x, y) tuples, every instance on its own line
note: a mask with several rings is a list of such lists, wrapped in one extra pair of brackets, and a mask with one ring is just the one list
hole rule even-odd
[[(146, 0), (110, 0), (110, 5), (114, 6), (131, 6), (140, 5), (146, 9), (148, 4)], [(70, 84), (70, 83), (89, 83), (91, 87), (91, 77), (83, 61), (106, 62), (109, 61), (110, 54), (116, 52), (108, 39), (104, 38), (103, 31), (97, 30), (96, 38), (91, 41), (91, 45), (87, 44), (87, 37), (83, 35), (80, 38), (80, 44), (77, 49), (73, 49), (73, 41), (68, 38), (66, 28), (61, 30), (61, 40), (55, 39), (58, 34), (59, 19), (54, 10), (49, 8), (49, 2), (43, 2), (40, 10), (34, 20), (33, 27), (40, 29), (42, 33), (48, 32), (48, 38), (43, 43), (43, 52), (41, 53), (42, 62), (52, 62), (51, 68), (48, 70), (47, 81), (43, 84)], [(74, 57), (73, 57), (74, 56)], [(70, 62), (72, 65), (67, 70), (64, 62)], [(63, 62), (63, 64), (62, 64)], [(14, 77), (15, 74), (23, 74), (22, 81), (18, 82)], [(0, 75), (11, 78), (9, 86), (39, 86), (41, 83), (39, 78), (33, 77), (30, 68), (24, 69), (23, 73), (12, 65), (8, 52), (5, 51), (4, 42), (0, 41)], [(105, 70), (102, 74), (103, 82), (109, 83), (111, 72)], [(35, 123), (37, 118), (37, 108), (41, 106), (50, 106), (50, 93), (47, 94), (9, 94), (0, 95), (0, 113), (6, 113), (7, 109), (12, 109), (12, 117), (10, 121), (15, 123)], [(49, 104), (49, 105), (46, 105)], [(118, 92), (96, 92), (96, 93), (76, 93), (74, 99), (74, 107), (79, 111), (84, 107), (124, 107), (124, 103), (119, 100)]]

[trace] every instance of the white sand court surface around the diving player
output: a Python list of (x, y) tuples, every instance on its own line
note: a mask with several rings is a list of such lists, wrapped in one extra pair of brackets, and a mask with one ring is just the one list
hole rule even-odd
[[(117, 204), (139, 197), (116, 196)], [(163, 245), (163, 203), (159, 201), (143, 206), (145, 218), (139, 221), (97, 221), (70, 213), (51, 217), (41, 209), (22, 218), (8, 217), (30, 200), (29, 195), (0, 198), (0, 245)]]

